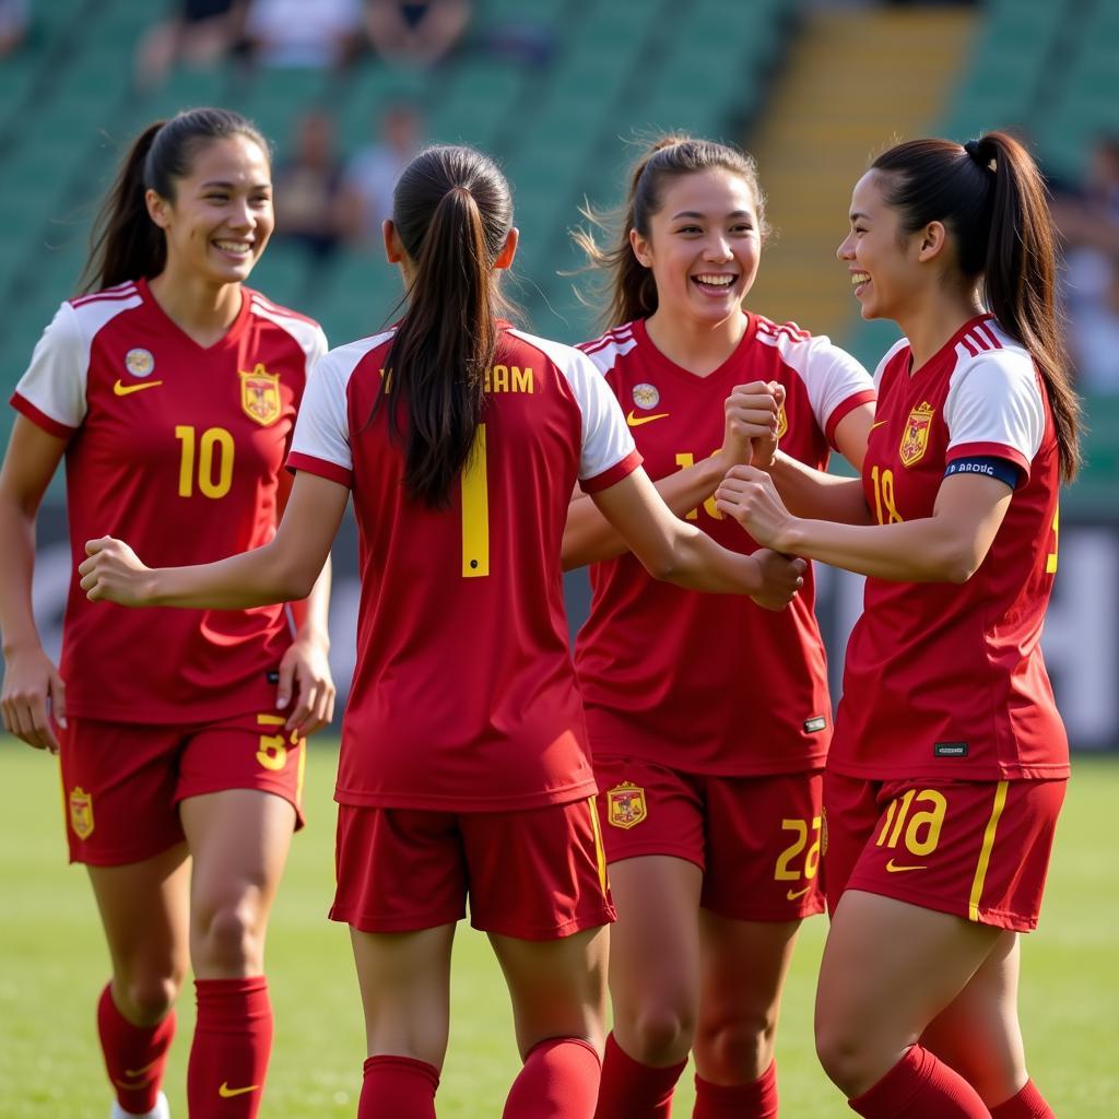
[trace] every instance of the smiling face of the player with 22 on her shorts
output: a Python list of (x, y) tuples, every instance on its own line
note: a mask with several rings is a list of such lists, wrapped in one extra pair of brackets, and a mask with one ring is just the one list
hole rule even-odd
[(667, 180), (649, 235), (630, 234), (652, 270), (658, 313), (717, 323), (737, 314), (758, 275), (761, 229), (750, 182), (713, 168)]

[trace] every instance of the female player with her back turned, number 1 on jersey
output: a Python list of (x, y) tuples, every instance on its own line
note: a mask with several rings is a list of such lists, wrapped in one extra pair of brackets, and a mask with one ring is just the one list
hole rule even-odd
[(421, 152), (384, 232), (404, 317), (321, 363), (275, 539), (168, 571), (94, 540), (83, 585), (137, 605), (289, 598), (322, 563), (352, 490), (363, 596), (331, 915), (350, 925), (365, 1007), (358, 1115), (435, 1113), (469, 892), (525, 1061), (505, 1116), (590, 1119), (612, 908), (563, 614), (572, 489), (579, 479), (651, 570), (686, 585), (781, 606), (803, 565), (733, 554), (677, 520), (591, 361), (497, 317), (518, 234), (489, 159)]

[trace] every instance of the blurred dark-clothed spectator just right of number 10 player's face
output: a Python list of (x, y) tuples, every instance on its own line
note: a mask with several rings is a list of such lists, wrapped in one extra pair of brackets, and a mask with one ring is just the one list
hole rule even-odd
[(300, 117), (294, 148), (276, 164), (272, 181), (275, 235), (307, 251), (313, 278), (340, 242), (342, 164), (335, 154), (335, 126), (330, 116), (311, 110)]

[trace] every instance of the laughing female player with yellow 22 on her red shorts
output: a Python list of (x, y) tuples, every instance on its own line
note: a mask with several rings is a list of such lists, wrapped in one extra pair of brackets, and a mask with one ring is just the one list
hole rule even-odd
[[(812, 467), (829, 446), (858, 466), (874, 399), (827, 338), (743, 310), (764, 228), (752, 160), (670, 137), (634, 167), (613, 248), (579, 237), (610, 276), (613, 326), (583, 348), (649, 473), (678, 516), (746, 553), (713, 499), (750, 461), (743, 425)], [(667, 1117), (689, 1049), (696, 1116), (773, 1117), (781, 985), (801, 918), (824, 908), (831, 708), (811, 576), (778, 615), (658, 583), (623, 549), (573, 501), (565, 560), (605, 561), (575, 658), (618, 906), (598, 1117)]]

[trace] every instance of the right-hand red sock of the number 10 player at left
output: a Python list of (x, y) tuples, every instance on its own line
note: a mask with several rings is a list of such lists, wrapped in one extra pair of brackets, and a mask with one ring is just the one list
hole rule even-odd
[(254, 1119), (272, 1053), (272, 1004), (264, 976), (196, 979), (198, 1022), (187, 1065), (196, 1119)]

